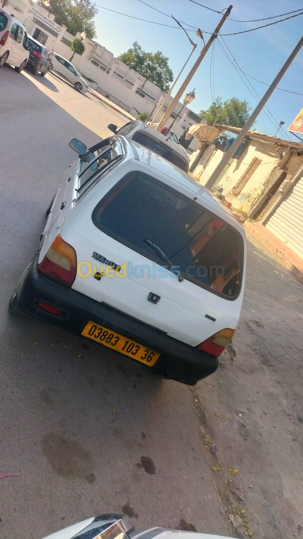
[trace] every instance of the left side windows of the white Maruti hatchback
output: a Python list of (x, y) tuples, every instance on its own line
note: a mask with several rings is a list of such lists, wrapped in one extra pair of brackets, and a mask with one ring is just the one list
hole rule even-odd
[[(90, 182), (96, 176), (99, 177), (99, 172), (103, 171), (112, 161), (124, 155), (122, 144), (120, 141), (111, 142), (110, 139), (102, 141), (98, 146), (94, 146), (89, 154), (84, 156), (81, 162), (81, 170), (79, 174), (78, 191), (85, 190), (90, 185)], [(82, 191), (84, 192), (84, 191)]]

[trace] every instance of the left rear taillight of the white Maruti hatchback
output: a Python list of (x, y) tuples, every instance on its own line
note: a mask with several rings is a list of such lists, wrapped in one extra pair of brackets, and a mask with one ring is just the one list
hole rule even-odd
[(74, 247), (64, 241), (60, 234), (54, 239), (44, 259), (38, 264), (39, 272), (66, 286), (76, 278), (77, 255)]

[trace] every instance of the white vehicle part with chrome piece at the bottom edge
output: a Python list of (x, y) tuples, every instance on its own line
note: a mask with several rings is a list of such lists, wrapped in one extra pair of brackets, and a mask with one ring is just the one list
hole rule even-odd
[(149, 528), (135, 531), (126, 515), (104, 514), (77, 522), (43, 539), (233, 539), (194, 531)]

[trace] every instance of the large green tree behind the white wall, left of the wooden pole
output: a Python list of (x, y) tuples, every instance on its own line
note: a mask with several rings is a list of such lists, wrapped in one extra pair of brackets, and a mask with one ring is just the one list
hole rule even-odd
[(135, 41), (132, 48), (120, 54), (118, 59), (142, 77), (154, 82), (164, 92), (168, 92), (174, 75), (168, 65), (168, 58), (162, 52), (145, 52)]

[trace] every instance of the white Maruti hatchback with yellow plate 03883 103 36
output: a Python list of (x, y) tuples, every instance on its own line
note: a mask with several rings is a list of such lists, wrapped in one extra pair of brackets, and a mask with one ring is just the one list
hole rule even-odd
[(196, 384), (217, 369), (239, 320), (243, 227), (210, 191), (124, 136), (70, 147), (78, 158), (10, 312)]

